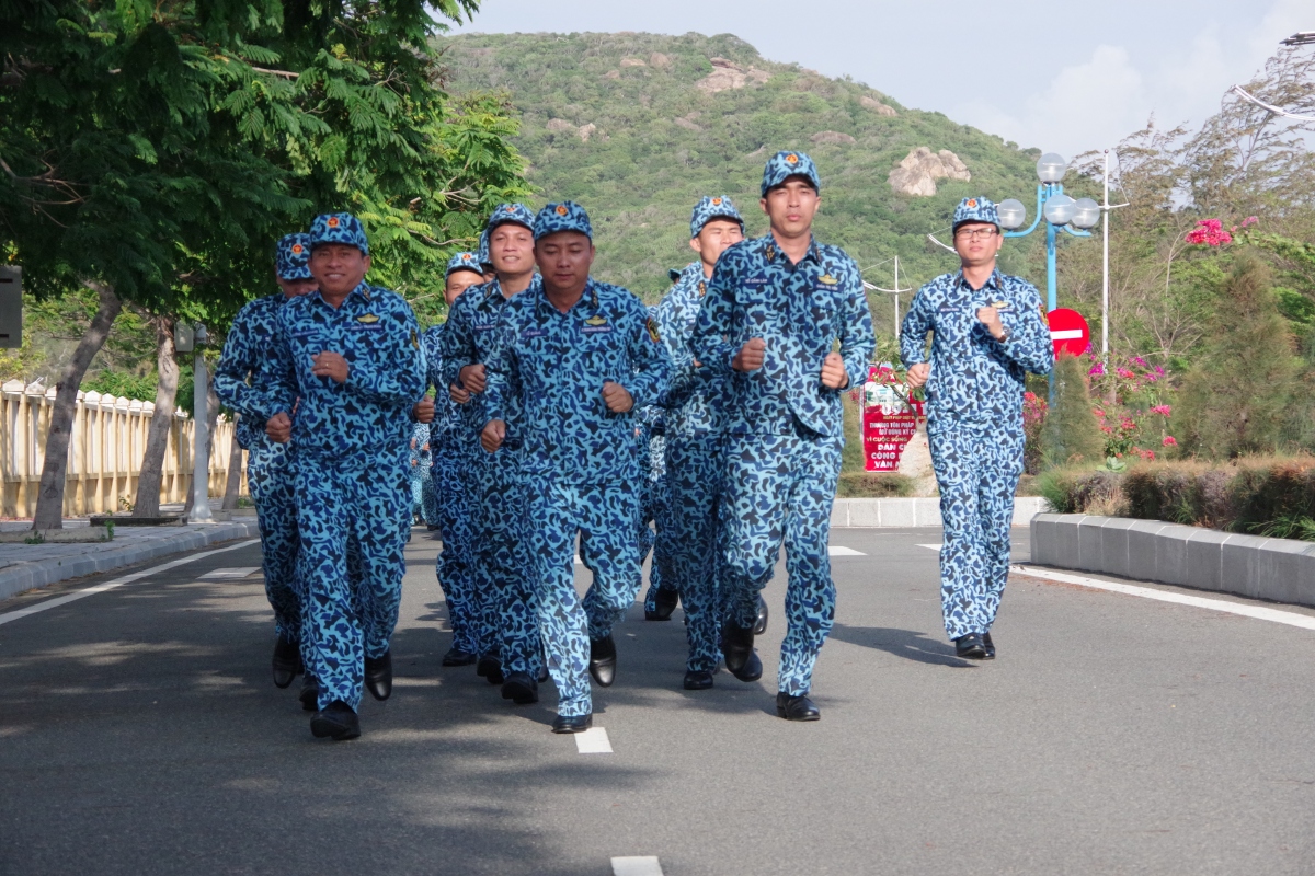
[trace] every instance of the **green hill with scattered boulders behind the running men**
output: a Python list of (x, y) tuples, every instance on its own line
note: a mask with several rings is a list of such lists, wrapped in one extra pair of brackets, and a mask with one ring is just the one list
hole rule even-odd
[[(585, 205), (596, 274), (650, 301), (667, 288), (667, 269), (692, 257), (689, 211), (700, 196), (730, 194), (748, 232), (765, 231), (759, 180), (780, 148), (818, 163), (818, 236), (864, 268), (898, 255), (905, 286), (956, 267), (926, 234), (945, 231), (938, 236), (948, 240), (960, 198), (1018, 197), (1030, 213), (1035, 198), (1038, 150), (907, 109), (863, 83), (765, 60), (730, 34), (467, 34), (439, 49), (451, 91), (510, 92), (539, 202)], [(938, 180), (931, 197), (894, 192), (892, 168), (918, 147), (949, 150), (972, 180)], [(1040, 236), (1006, 247), (1005, 268), (1044, 284)], [(889, 288), (892, 267), (867, 277)], [(889, 332), (890, 303), (873, 294), (878, 327)]]

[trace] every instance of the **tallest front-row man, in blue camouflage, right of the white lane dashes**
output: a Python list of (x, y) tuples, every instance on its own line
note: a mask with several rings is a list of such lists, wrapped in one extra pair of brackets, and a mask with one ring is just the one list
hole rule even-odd
[(771, 232), (722, 253), (693, 339), (694, 359), (730, 378), (722, 654), (736, 675), (756, 668), (757, 596), (784, 542), (789, 582), (776, 712), (793, 721), (821, 717), (807, 693), (835, 619), (827, 538), (844, 443), (840, 391), (863, 383), (876, 349), (857, 265), (813, 239), (819, 190), (807, 155), (772, 156), (761, 186)]

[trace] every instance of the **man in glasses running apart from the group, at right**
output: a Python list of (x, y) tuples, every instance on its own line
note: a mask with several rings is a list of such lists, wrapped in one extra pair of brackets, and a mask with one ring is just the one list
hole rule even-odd
[(899, 338), (909, 385), (927, 387), (927, 440), (945, 529), (945, 632), (969, 659), (995, 657), (990, 625), (1009, 578), (1009, 528), (1023, 473), (1023, 380), (1053, 365), (1040, 294), (995, 268), (1003, 244), (995, 205), (964, 198), (955, 210), (963, 267), (918, 290)]

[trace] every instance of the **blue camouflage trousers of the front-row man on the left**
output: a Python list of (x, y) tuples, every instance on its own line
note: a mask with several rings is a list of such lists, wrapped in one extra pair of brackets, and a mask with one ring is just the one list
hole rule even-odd
[(360, 704), (364, 658), (388, 651), (406, 574), (408, 460), (297, 460), (302, 632), (320, 708)]

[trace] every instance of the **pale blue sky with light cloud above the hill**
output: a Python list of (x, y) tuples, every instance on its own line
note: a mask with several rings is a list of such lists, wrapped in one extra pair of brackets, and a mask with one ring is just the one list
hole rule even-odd
[(1155, 114), (1199, 125), (1279, 39), (1315, 30), (1315, 0), (483, 0), (454, 33), (732, 33), (764, 58), (849, 75), (1072, 158)]

